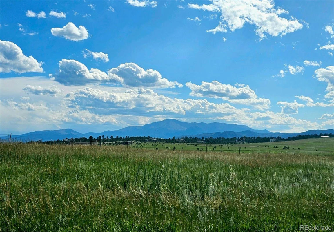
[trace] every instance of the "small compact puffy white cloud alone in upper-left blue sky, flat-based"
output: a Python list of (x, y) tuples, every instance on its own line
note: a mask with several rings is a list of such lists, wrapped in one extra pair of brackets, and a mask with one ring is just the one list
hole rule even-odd
[(77, 28), (73, 23), (69, 22), (62, 28), (51, 28), (51, 33), (54, 36), (63, 36), (71, 41), (80, 41), (88, 38), (88, 30), (84, 26)]

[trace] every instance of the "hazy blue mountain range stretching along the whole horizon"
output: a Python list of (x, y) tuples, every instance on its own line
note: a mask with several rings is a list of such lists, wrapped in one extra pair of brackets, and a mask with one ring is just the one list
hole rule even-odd
[[(333, 129), (328, 130), (308, 130), (301, 133), (280, 133), (270, 132), (269, 130), (252, 129), (245, 125), (228, 124), (228, 123), (204, 123), (204, 122), (182, 122), (175, 119), (166, 119), (163, 121), (149, 123), (143, 126), (129, 126), (119, 130), (106, 130), (100, 133), (89, 132), (79, 133), (72, 129), (61, 130), (38, 130), (26, 134), (12, 135), (13, 141), (30, 141), (30, 140), (57, 140), (64, 138), (79, 138), (79, 137), (98, 137), (99, 135), (107, 136), (151, 136), (157, 138), (172, 138), (172, 137), (241, 137), (241, 136), (260, 136), (260, 137), (277, 137), (287, 138), (303, 134), (320, 134), (320, 133), (334, 133)], [(0, 137), (0, 140), (8, 141), (8, 136)]]

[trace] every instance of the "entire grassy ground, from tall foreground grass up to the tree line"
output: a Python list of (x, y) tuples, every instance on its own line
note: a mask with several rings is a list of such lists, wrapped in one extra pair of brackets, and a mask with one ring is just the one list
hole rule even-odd
[(334, 228), (333, 140), (238, 145), (249, 149), (0, 144), (0, 229)]

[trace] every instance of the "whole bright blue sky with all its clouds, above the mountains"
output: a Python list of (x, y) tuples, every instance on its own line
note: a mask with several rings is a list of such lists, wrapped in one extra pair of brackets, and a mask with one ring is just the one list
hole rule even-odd
[(333, 1), (1, 1), (1, 133), (334, 124)]

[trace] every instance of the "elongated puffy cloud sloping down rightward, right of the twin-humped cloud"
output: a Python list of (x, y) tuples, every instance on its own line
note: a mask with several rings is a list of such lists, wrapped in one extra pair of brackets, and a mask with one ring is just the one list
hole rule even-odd
[(260, 110), (270, 107), (270, 100), (259, 98), (248, 85), (237, 84), (235, 87), (212, 81), (202, 82), (201, 85), (187, 82), (186, 86), (191, 90), (190, 96), (221, 98), (234, 104), (252, 105)]

